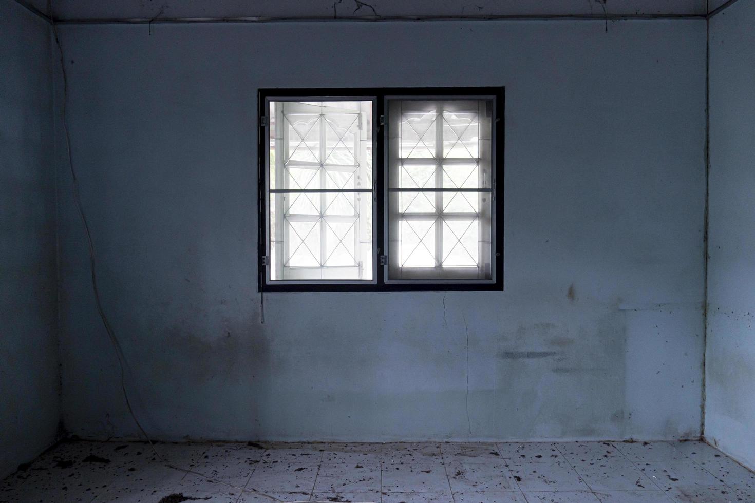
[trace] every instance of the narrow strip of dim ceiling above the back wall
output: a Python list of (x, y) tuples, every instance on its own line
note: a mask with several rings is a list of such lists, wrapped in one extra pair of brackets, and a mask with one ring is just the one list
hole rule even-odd
[[(720, 5), (726, 0), (710, 0)], [(48, 0), (26, 0), (47, 12)], [(657, 17), (706, 14), (706, 0), (52, 0), (58, 20)]]

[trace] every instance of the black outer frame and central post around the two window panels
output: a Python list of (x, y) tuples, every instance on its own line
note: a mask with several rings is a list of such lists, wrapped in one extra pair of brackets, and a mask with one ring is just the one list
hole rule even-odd
[[(495, 201), (494, 222), (492, 232), (494, 235), (495, 251), (492, 260), (495, 264), (495, 282), (470, 283), (464, 280), (446, 281), (443, 283), (417, 280), (404, 283), (387, 283), (385, 281), (385, 269), (387, 265), (381, 265), (380, 257), (385, 254), (385, 221), (386, 187), (384, 176), (387, 166), (385, 163), (386, 129), (387, 125), (381, 124), (381, 118), (386, 116), (385, 104), (387, 97), (417, 97), (432, 99), (433, 97), (495, 97), (495, 121), (493, 134), (494, 163), (493, 173), (493, 197)], [(376, 266), (376, 278), (370, 284), (334, 284), (312, 281), (307, 283), (267, 283), (267, 177), (270, 170), (267, 169), (266, 152), (268, 144), (268, 111), (267, 100), (269, 98), (285, 97), (312, 97), (313, 100), (321, 101), (328, 97), (374, 97), (375, 109), (374, 121), (374, 153), (375, 161), (373, 170), (375, 173), (376, 194), (376, 219), (374, 225), (374, 263)], [(257, 291), (260, 292), (393, 292), (393, 291), (495, 291), (504, 289), (504, 87), (328, 87), (328, 88), (260, 88), (257, 92), (257, 204), (259, 213), (257, 219)]]

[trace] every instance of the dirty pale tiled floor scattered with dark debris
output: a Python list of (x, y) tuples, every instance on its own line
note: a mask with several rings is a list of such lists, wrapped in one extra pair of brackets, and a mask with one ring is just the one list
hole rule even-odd
[(156, 449), (165, 462), (144, 443), (60, 444), (2, 481), (0, 501), (755, 502), (755, 474), (691, 441), (158, 443)]

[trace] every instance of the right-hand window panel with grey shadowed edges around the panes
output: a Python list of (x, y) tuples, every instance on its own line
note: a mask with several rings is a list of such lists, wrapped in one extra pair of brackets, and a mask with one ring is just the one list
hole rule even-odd
[(387, 112), (388, 281), (492, 281), (492, 100)]

